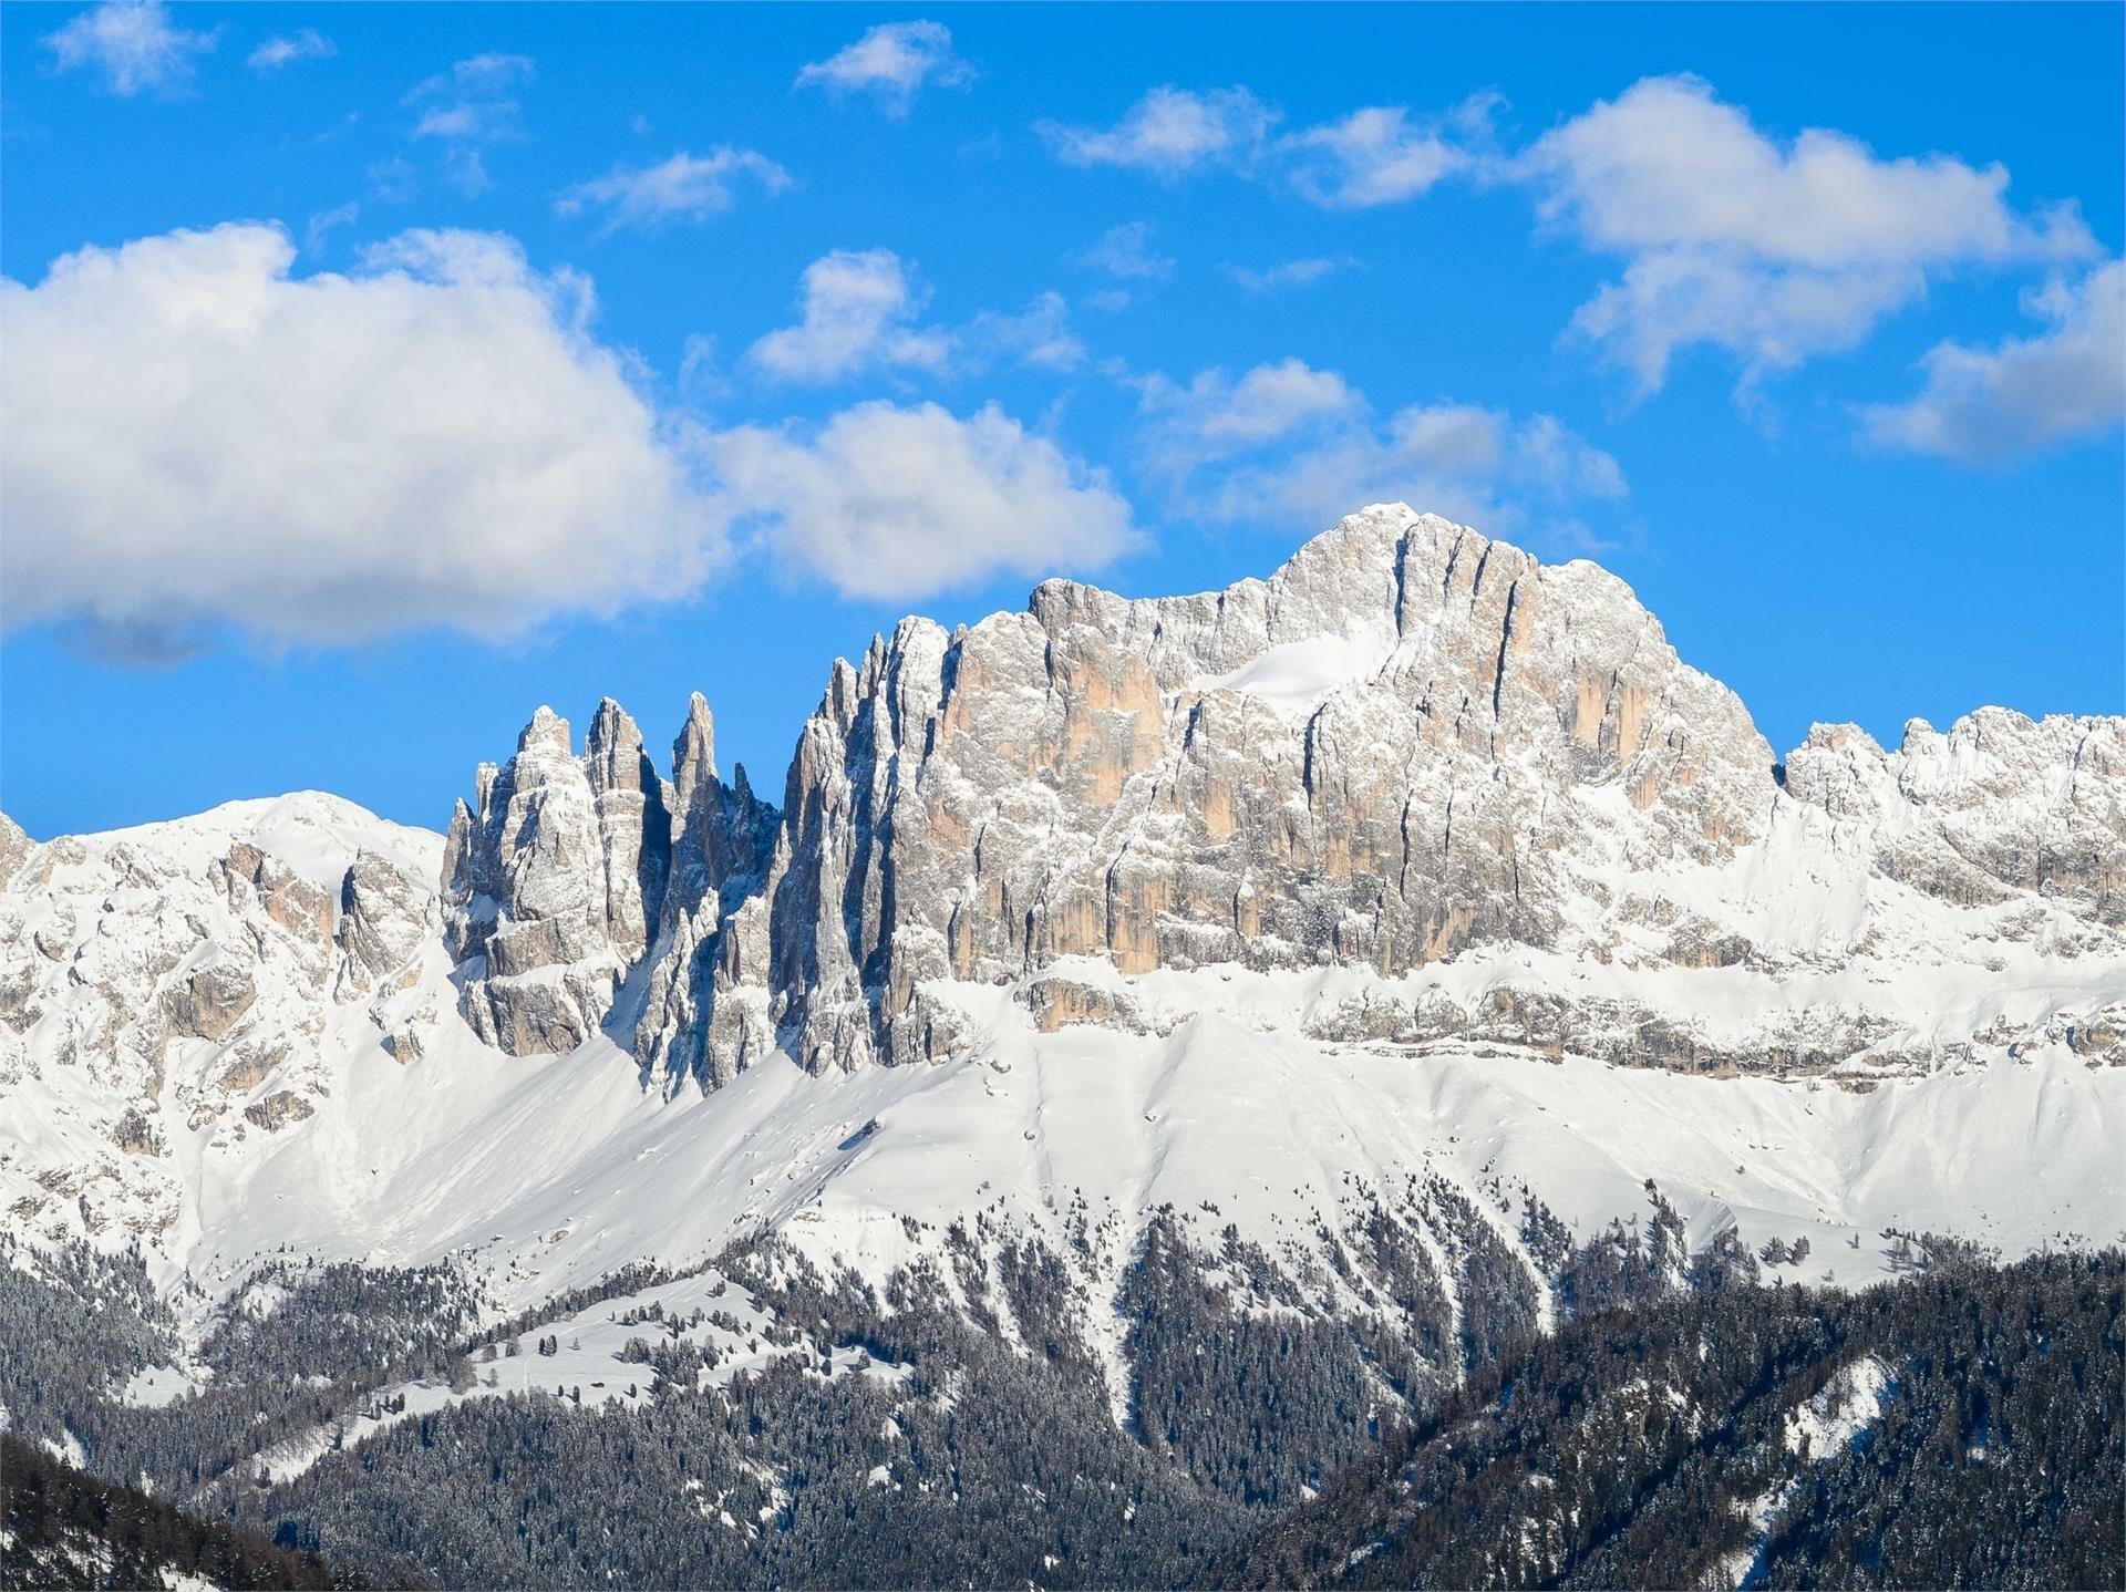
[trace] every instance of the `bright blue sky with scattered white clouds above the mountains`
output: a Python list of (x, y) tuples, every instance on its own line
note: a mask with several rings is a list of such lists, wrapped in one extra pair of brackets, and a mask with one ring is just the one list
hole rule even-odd
[(6, 6), (0, 806), (780, 789), (904, 612), (1410, 497), (1775, 748), (2122, 708), (2117, 6)]

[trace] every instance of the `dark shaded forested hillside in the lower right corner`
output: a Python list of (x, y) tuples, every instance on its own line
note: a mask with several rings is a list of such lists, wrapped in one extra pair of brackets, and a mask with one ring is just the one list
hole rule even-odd
[(1229, 1586), (2120, 1586), (2122, 1269), (1605, 1311), (1480, 1371)]

